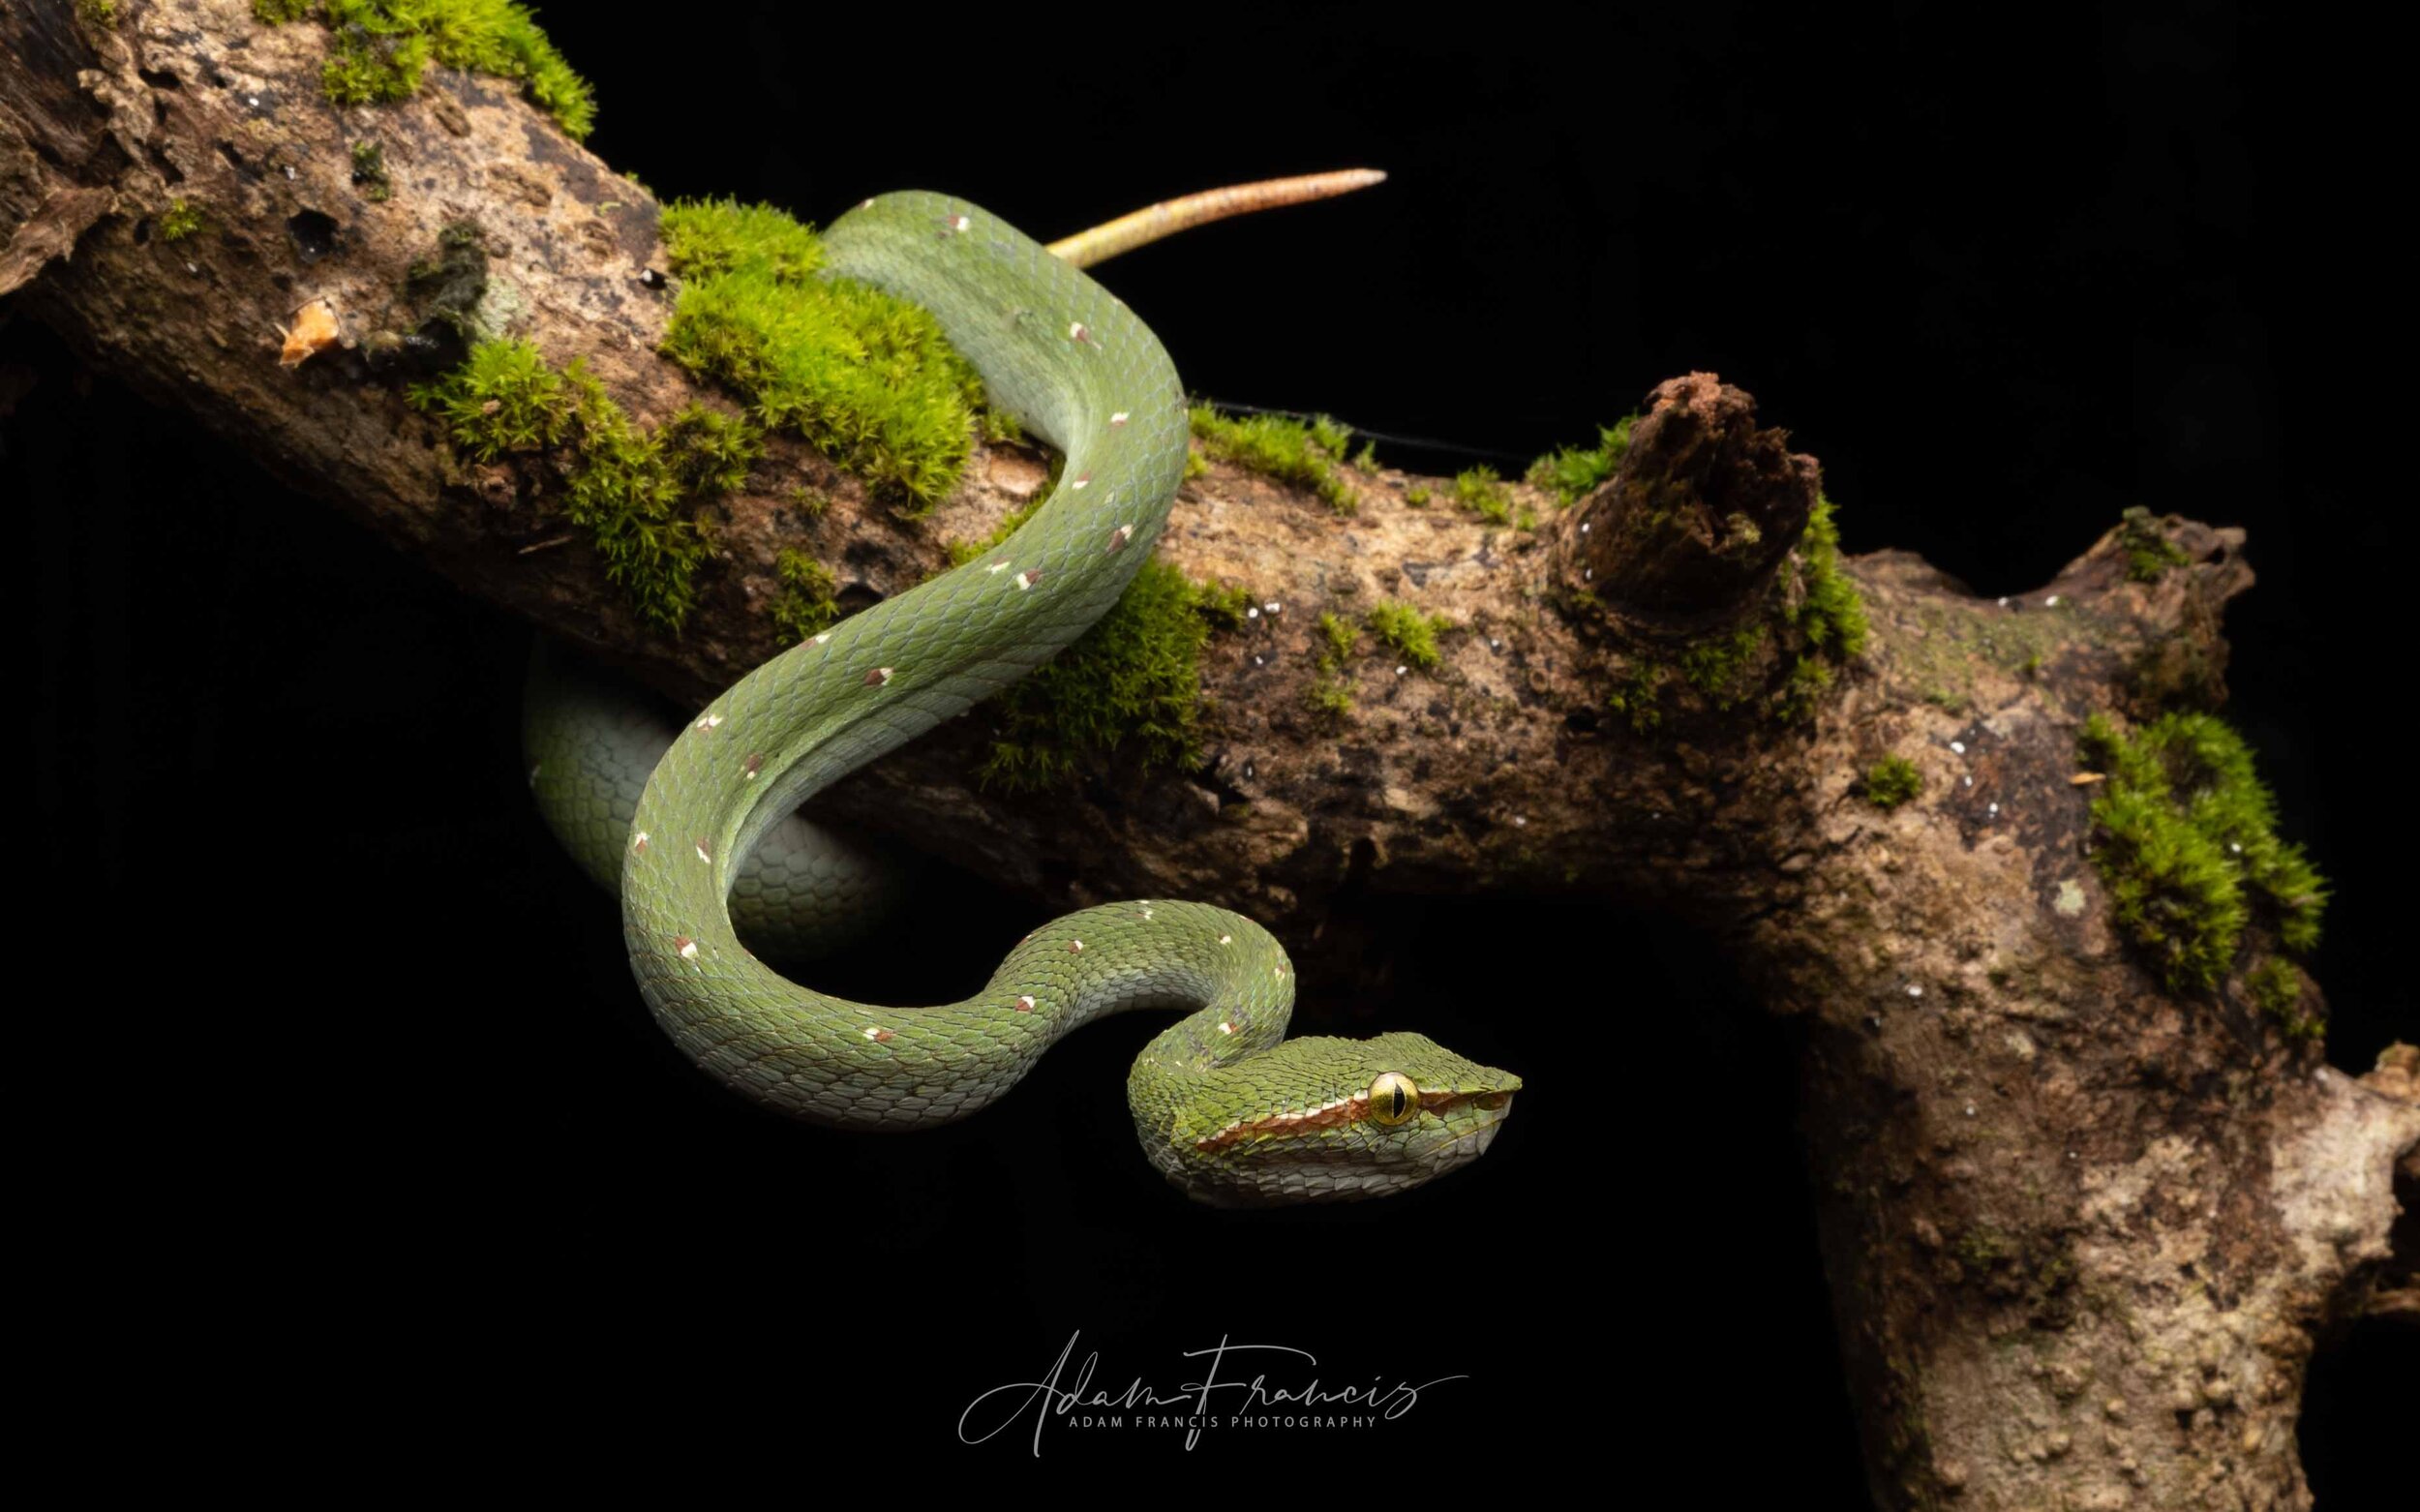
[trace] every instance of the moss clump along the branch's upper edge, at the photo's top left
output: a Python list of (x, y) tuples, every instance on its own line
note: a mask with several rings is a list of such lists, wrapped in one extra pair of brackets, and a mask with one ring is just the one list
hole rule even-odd
[(513, 80), (571, 138), (595, 126), (595, 94), (530, 7), (513, 0), (252, 0), (264, 24), (317, 10), (329, 29), (319, 87), (336, 104), (394, 104), (421, 90), (428, 63)]

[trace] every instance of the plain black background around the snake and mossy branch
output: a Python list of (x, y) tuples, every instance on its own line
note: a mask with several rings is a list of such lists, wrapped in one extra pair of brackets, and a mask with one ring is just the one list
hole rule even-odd
[[(663, 196), (828, 220), (946, 189), (1055, 237), (1389, 169), (1101, 271), (1198, 394), (1467, 448), (1389, 462), (1510, 472), (1713, 370), (1822, 460), (1851, 552), (1980, 593), (2047, 581), (2130, 503), (2248, 527), (2229, 714), (2338, 883), (2328, 1055), (2357, 1072), (2410, 1035), (2379, 48), (2226, 7), (726, 10), (544, 17), (598, 85), (590, 145)], [(68, 1185), (104, 1210), (60, 1246), (152, 1321), (169, 1379), (232, 1352), (305, 1386), (281, 1432), (544, 1427), (593, 1466), (1304, 1454), (1515, 1490), (1677, 1464), (1716, 1502), (1861, 1505), (1788, 1031), (1709, 943), (1568, 902), (1387, 905), (1358, 948), (1392, 953), (1392, 992), (1302, 1026), (1425, 1028), (1529, 1091), (1481, 1166), (1379, 1207), (1210, 1214), (1159, 1185), (1116, 1093), (1145, 1021), (958, 1130), (762, 1118), (656, 1038), (610, 905), (525, 810), (528, 631), (24, 322), (0, 353), (34, 377), (0, 479), (34, 527), (53, 878), (19, 951), (111, 980), (53, 1026), (58, 1144), (97, 1156)], [(1038, 917), (937, 871), (823, 985), (953, 997)], [(133, 1069), (94, 1084), (94, 1057)], [(99, 1239), (126, 1229), (133, 1256)], [(1041, 1461), (956, 1442), (968, 1398), (1077, 1333), (1113, 1389), (1183, 1381), (1222, 1335), (1312, 1350), (1331, 1384), (1467, 1379), (1379, 1430), (1212, 1430), (1191, 1456), (1137, 1430), (1053, 1427)], [(2396, 1350), (2323, 1355), (2323, 1507), (2369, 1505)]]

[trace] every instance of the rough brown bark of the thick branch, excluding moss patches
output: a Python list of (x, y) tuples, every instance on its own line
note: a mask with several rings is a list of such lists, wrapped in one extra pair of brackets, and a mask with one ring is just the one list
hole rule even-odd
[[(702, 699), (777, 648), (779, 547), (842, 566), (857, 607), (1041, 486), (1036, 455), (987, 448), (934, 515), (900, 520), (777, 438), (721, 506), (687, 634), (649, 634), (569, 539), (544, 467), (453, 462), (368, 356), (419, 331), (409, 269), (474, 223), (484, 310), (661, 421), (699, 392), (656, 356), (670, 293), (649, 194), (494, 80), (431, 75), (416, 102), (336, 109), (317, 27), (261, 29), (237, 2), (128, 12), (114, 31), (68, 5), (5, 12), (0, 290), (668, 694)], [(392, 198), (353, 184), (365, 135)], [(206, 227), (167, 240), (174, 201)], [(341, 339), (281, 365), (312, 302)], [(1297, 939), (1348, 881), (1675, 910), (1810, 1026), (1810, 1161), (1883, 1505), (2306, 1505), (2314, 1333), (2413, 1309), (2389, 1234), (2396, 1161), (2420, 1178), (2420, 1067), (2398, 1052), (2352, 1079), (2282, 1040), (2238, 982), (2163, 992), (2108, 924), (2072, 784), (2086, 714), (2222, 697), (2241, 535), (2168, 520), (2188, 561), (2137, 583), (2113, 532), (1996, 602), (1907, 554), (1863, 556), (1844, 569), (1871, 646), (1810, 714), (1767, 697), (1791, 653), (1776, 634), (1742, 673), (1757, 697), (1675, 687), (1641, 731), (1607, 709), (1624, 677), (1791, 607), (1776, 573), (1803, 547), (1815, 462), (1692, 375), (1650, 397), (1624, 472), (1537, 530), (1408, 508), (1418, 481), (1360, 479), (1355, 518), (1227, 467), (1186, 486), (1166, 556), (1263, 605), (1205, 656), (1200, 769), (1099, 762), (1067, 793), (978, 801), (978, 714), (832, 808), (1053, 905), (1205, 898)], [(801, 515), (794, 484), (832, 508)], [(1382, 598), (1454, 622), (1442, 665), (1365, 656), (1353, 711), (1316, 711), (1314, 617)], [(1880, 810), (1856, 784), (1890, 752), (1924, 798)]]

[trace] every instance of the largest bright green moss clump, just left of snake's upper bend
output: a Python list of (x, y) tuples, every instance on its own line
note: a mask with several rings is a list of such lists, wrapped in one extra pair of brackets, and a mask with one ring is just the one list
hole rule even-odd
[(924, 310), (847, 278), (816, 278), (816, 235), (765, 206), (663, 210), (670, 269), (685, 278), (663, 353), (748, 402), (770, 431), (796, 431), (927, 513), (973, 450), (983, 380)]

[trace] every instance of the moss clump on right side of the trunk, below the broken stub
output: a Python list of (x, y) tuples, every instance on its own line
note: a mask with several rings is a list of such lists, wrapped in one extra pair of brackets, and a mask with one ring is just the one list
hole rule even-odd
[(2234, 968), (2248, 924), (2289, 953), (2318, 943), (2328, 888), (2277, 839), (2277, 801), (2251, 750), (2207, 714), (2166, 714), (2127, 738), (2096, 714), (2081, 755), (2108, 781), (2093, 798), (2093, 866), (2118, 927), (2176, 992)]

